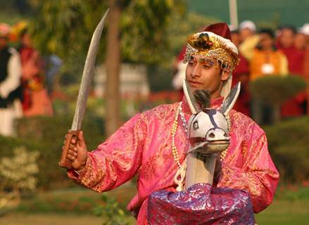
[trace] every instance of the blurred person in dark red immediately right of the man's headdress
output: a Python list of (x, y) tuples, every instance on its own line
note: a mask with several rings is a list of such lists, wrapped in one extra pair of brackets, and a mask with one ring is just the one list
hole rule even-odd
[[(231, 27), (231, 38), (235, 46), (239, 46), (240, 43), (240, 34), (239, 30), (235, 27)], [(234, 110), (237, 110), (244, 115), (250, 115), (250, 94), (248, 91), (248, 76), (249, 76), (249, 64), (246, 58), (239, 52), (239, 64), (233, 71), (232, 86), (236, 85), (238, 82), (241, 82), (241, 90), (237, 101), (234, 105)]]

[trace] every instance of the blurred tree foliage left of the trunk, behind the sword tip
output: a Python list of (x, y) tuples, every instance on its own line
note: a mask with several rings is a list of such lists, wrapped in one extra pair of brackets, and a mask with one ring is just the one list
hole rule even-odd
[(92, 4), (96, 4), (95, 1), (87, 1), (92, 3), (89, 6), (83, 2), (30, 1), (36, 15), (30, 24), (30, 31), (33, 33), (33, 43), (42, 53), (56, 53), (61, 58), (66, 58), (87, 51), (92, 37), (89, 34), (92, 34), (96, 26), (96, 23), (89, 23), (89, 20), (93, 16), (94, 20), (98, 18), (96, 21), (99, 21), (98, 9), (103, 1), (96, 11), (90, 8)]

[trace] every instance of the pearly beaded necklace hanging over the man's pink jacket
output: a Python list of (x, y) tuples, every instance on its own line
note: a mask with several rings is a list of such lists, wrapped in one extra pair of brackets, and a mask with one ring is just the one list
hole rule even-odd
[[(182, 102), (179, 103), (176, 113), (175, 113), (175, 120), (172, 123), (172, 157), (174, 158), (174, 161), (177, 165), (177, 167), (180, 169), (180, 167), (182, 167), (182, 165), (180, 164), (179, 161), (179, 154), (178, 154), (178, 150), (175, 146), (175, 135), (176, 135), (176, 131), (177, 131), (177, 127), (178, 127), (178, 117), (180, 115), (180, 118), (182, 120), (182, 125), (184, 127), (184, 131), (186, 132), (187, 136), (189, 136), (188, 133), (188, 125), (186, 122), (186, 119), (184, 118), (184, 113), (182, 112)], [(231, 128), (231, 120), (229, 115), (227, 115), (227, 124), (228, 124), (228, 130)], [(225, 155), (227, 154), (227, 149), (223, 150), (222, 153), (220, 153), (220, 160), (224, 160)]]

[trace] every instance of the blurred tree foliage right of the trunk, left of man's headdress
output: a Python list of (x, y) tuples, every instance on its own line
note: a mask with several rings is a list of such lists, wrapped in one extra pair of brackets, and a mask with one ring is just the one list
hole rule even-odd
[(139, 63), (161, 63), (169, 58), (167, 32), (172, 16), (185, 13), (184, 0), (126, 1), (120, 24), (122, 58)]

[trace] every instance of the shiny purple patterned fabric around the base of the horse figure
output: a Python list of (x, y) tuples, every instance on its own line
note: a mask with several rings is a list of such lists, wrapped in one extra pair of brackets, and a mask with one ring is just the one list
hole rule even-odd
[(156, 191), (149, 197), (147, 221), (156, 224), (253, 225), (246, 191), (194, 184), (187, 191)]

